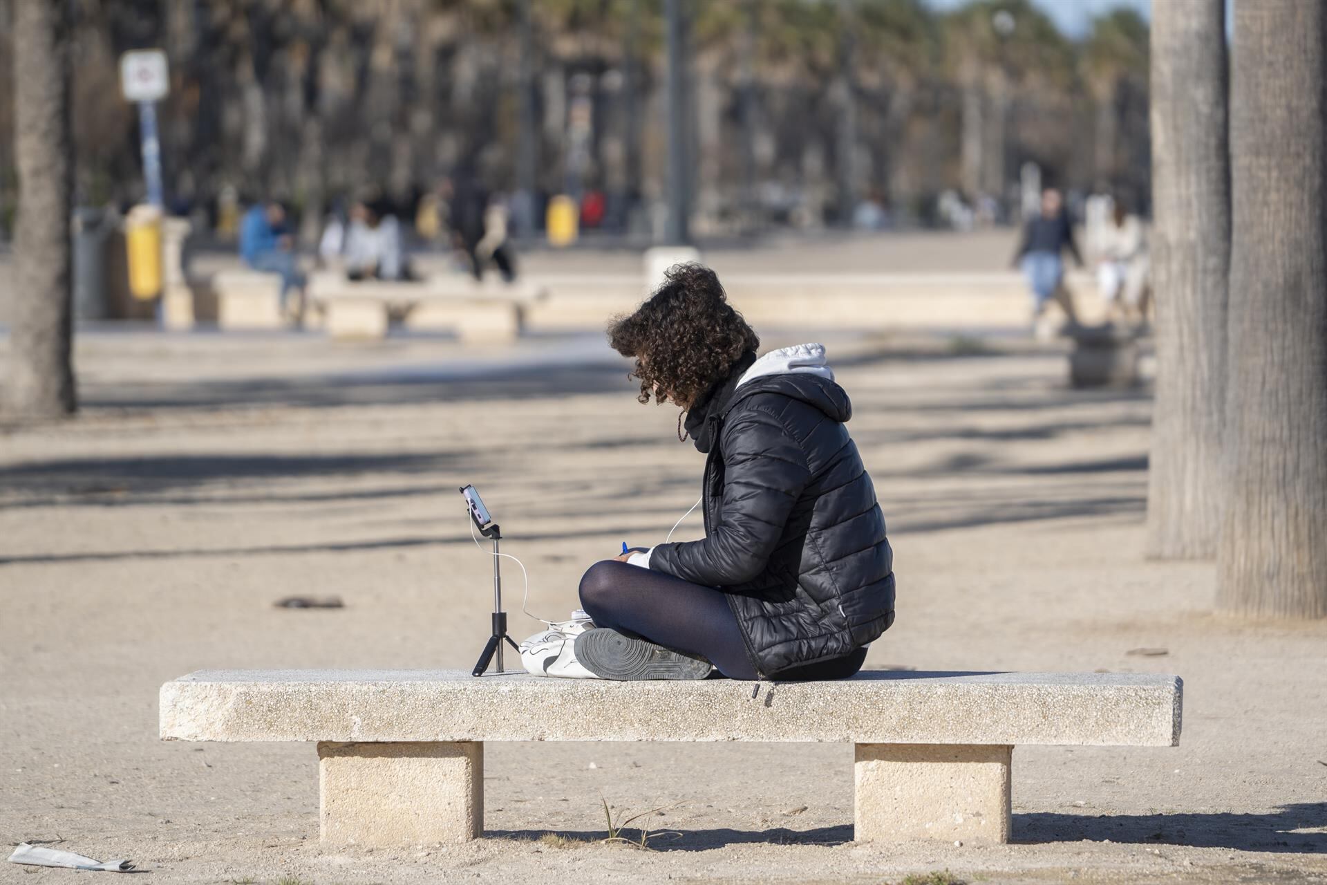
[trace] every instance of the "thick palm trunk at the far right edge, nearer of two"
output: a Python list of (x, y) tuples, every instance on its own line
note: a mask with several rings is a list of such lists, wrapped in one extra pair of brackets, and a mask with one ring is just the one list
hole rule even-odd
[[(1166, 4), (1160, 4), (1166, 5)], [(1327, 5), (1235, 4), (1217, 606), (1327, 617)]]

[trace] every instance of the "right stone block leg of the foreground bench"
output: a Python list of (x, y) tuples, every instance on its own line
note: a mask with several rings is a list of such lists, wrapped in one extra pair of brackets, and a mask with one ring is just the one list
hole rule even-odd
[(856, 746), (856, 839), (1007, 843), (1013, 747)]

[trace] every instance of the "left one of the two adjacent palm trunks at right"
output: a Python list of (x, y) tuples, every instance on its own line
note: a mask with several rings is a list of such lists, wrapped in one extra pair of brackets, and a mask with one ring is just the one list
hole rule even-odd
[(1230, 161), (1223, 0), (1152, 16), (1152, 273), (1157, 382), (1148, 555), (1217, 552), (1226, 397)]

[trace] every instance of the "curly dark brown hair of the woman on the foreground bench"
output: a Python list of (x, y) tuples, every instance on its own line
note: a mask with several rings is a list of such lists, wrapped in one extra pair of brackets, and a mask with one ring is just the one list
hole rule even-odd
[(641, 382), (637, 399), (649, 402), (653, 393), (660, 403), (687, 409), (760, 338), (729, 304), (714, 271), (686, 263), (670, 267), (636, 313), (613, 318), (608, 344), (636, 357), (628, 377)]

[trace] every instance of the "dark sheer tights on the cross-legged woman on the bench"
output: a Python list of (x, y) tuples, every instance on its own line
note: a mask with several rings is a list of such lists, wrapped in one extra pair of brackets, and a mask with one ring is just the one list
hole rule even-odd
[[(585, 572), (580, 597), (596, 626), (699, 654), (730, 679), (756, 678), (742, 629), (722, 590), (605, 560)], [(843, 658), (786, 670), (778, 678), (843, 679), (860, 670), (865, 657), (867, 650), (857, 649)]]

